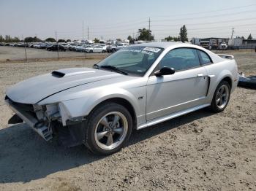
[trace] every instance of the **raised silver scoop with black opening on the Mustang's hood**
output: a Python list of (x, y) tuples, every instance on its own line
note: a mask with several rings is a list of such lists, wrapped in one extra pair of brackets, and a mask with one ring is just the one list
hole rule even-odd
[(81, 70), (81, 69), (60, 69), (60, 70), (55, 70), (51, 74), (53, 77), (67, 77), (67, 76), (75, 76), (75, 75), (80, 75), (80, 74), (87, 74), (87, 73), (94, 73), (94, 70)]

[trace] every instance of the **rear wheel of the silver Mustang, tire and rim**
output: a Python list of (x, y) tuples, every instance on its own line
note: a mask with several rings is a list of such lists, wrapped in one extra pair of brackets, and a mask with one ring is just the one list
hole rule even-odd
[(211, 101), (211, 110), (213, 112), (222, 112), (230, 101), (230, 85), (222, 81), (217, 86), (214, 98)]

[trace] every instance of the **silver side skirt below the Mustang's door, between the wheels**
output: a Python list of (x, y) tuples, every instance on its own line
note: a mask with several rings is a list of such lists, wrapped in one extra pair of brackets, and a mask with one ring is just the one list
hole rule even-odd
[(164, 122), (164, 121), (167, 121), (167, 120), (171, 120), (173, 118), (179, 117), (179, 116), (184, 115), (184, 114), (188, 114), (190, 112), (195, 112), (198, 109), (203, 109), (203, 108), (205, 108), (207, 106), (210, 106), (210, 105), (211, 104), (203, 104), (203, 105), (200, 105), (200, 106), (192, 107), (190, 109), (186, 109), (186, 110), (181, 111), (181, 112), (176, 112), (176, 113), (164, 116), (164, 117), (159, 117), (159, 118), (157, 118), (155, 120), (150, 120), (150, 121), (148, 121), (146, 123), (143, 123), (142, 125), (138, 126), (137, 130), (140, 130), (142, 128), (147, 128), (147, 127), (149, 127), (151, 125), (156, 125), (159, 122)]

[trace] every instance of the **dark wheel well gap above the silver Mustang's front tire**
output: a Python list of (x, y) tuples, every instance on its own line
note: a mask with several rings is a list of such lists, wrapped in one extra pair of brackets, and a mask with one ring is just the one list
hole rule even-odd
[(132, 104), (129, 103), (129, 101), (127, 101), (124, 98), (109, 98), (99, 103), (97, 106), (94, 107), (94, 109), (97, 108), (98, 106), (101, 106), (102, 104), (105, 104), (106, 102), (112, 102), (112, 103), (116, 103), (116, 104), (120, 104), (121, 106), (124, 106), (128, 110), (128, 112), (131, 114), (133, 127), (136, 128), (137, 117), (136, 117), (135, 109), (133, 108)]

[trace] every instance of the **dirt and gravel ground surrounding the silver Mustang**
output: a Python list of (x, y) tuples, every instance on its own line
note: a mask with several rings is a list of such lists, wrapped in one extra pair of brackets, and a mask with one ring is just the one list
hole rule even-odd
[[(256, 53), (231, 53), (240, 71), (256, 74)], [(95, 62), (0, 63), (0, 190), (256, 190), (255, 90), (237, 88), (225, 112), (203, 109), (136, 131), (108, 157), (45, 142), (25, 124), (7, 125), (7, 87)]]

